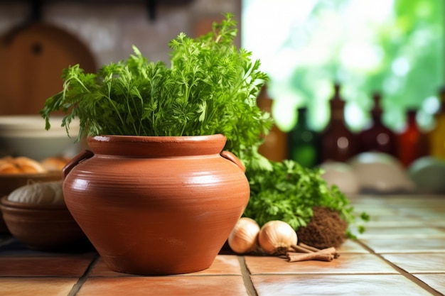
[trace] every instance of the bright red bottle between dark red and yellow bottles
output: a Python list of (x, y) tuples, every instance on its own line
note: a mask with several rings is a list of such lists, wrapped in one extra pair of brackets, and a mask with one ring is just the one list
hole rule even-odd
[(429, 139), (416, 121), (417, 110), (407, 110), (407, 124), (398, 136), (398, 159), (404, 168), (408, 168), (417, 158), (429, 154)]

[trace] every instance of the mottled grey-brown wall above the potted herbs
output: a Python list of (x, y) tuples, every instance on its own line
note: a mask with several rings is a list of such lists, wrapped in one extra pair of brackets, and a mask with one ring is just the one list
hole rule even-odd
[[(240, 20), (240, 2), (194, 0), (186, 5), (159, 5), (156, 19), (150, 21), (144, 1), (139, 4), (48, 1), (43, 6), (42, 18), (77, 35), (90, 48), (98, 65), (124, 59), (132, 52), (132, 44), (150, 60), (168, 60), (169, 40), (182, 31), (187, 35), (202, 32), (203, 26), (207, 28), (224, 12), (232, 12)], [(0, 35), (20, 24), (28, 12), (26, 2), (0, 3)]]

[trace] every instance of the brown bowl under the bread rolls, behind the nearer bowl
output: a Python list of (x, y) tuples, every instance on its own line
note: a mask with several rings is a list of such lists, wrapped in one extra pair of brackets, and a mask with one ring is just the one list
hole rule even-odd
[[(6, 196), (18, 187), (35, 182), (62, 180), (62, 172), (42, 172), (30, 174), (0, 174), (0, 197)], [(0, 234), (9, 233), (0, 212)]]

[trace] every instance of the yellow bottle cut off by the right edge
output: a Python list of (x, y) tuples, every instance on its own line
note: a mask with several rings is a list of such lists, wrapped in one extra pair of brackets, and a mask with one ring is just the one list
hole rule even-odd
[(445, 159), (445, 87), (439, 91), (440, 109), (434, 115), (435, 126), (429, 132), (430, 155)]

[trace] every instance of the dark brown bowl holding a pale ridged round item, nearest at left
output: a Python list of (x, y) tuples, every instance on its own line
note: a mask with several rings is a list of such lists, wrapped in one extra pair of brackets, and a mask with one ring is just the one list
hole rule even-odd
[(85, 239), (65, 204), (27, 204), (7, 198), (0, 202), (6, 226), (28, 248), (58, 251)]

